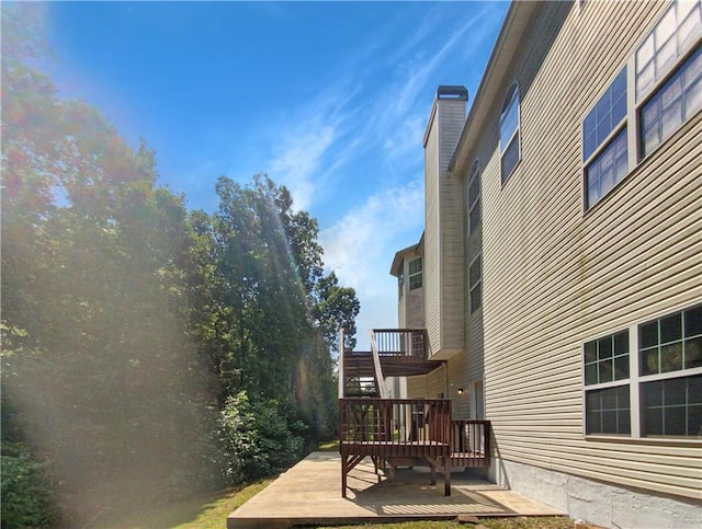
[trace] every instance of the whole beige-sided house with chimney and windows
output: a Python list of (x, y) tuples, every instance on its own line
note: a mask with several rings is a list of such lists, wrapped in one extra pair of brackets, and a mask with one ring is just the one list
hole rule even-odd
[(434, 361), (395, 394), (489, 421), (484, 475), (605, 527), (702, 524), (701, 42), (700, 0), (513, 2), (467, 116), (437, 91), (392, 265)]

